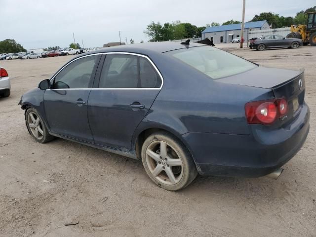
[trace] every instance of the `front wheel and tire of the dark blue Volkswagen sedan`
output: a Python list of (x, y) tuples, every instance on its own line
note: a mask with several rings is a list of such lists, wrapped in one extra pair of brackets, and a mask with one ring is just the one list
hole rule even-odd
[(30, 108), (26, 111), (25, 122), (29, 133), (35, 141), (46, 143), (54, 139), (54, 137), (48, 133), (46, 124), (36, 109)]

